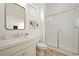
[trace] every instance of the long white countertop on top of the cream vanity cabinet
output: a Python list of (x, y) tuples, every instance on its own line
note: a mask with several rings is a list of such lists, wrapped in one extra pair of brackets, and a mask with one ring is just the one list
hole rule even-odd
[(34, 40), (35, 42), (38, 42), (39, 39), (37, 36), (32, 36), (32, 37), (24, 37), (24, 38), (14, 38), (14, 39), (9, 39), (9, 40), (0, 40), (0, 50), (16, 46), (18, 44), (22, 44), (24, 42), (30, 42), (31, 40)]

